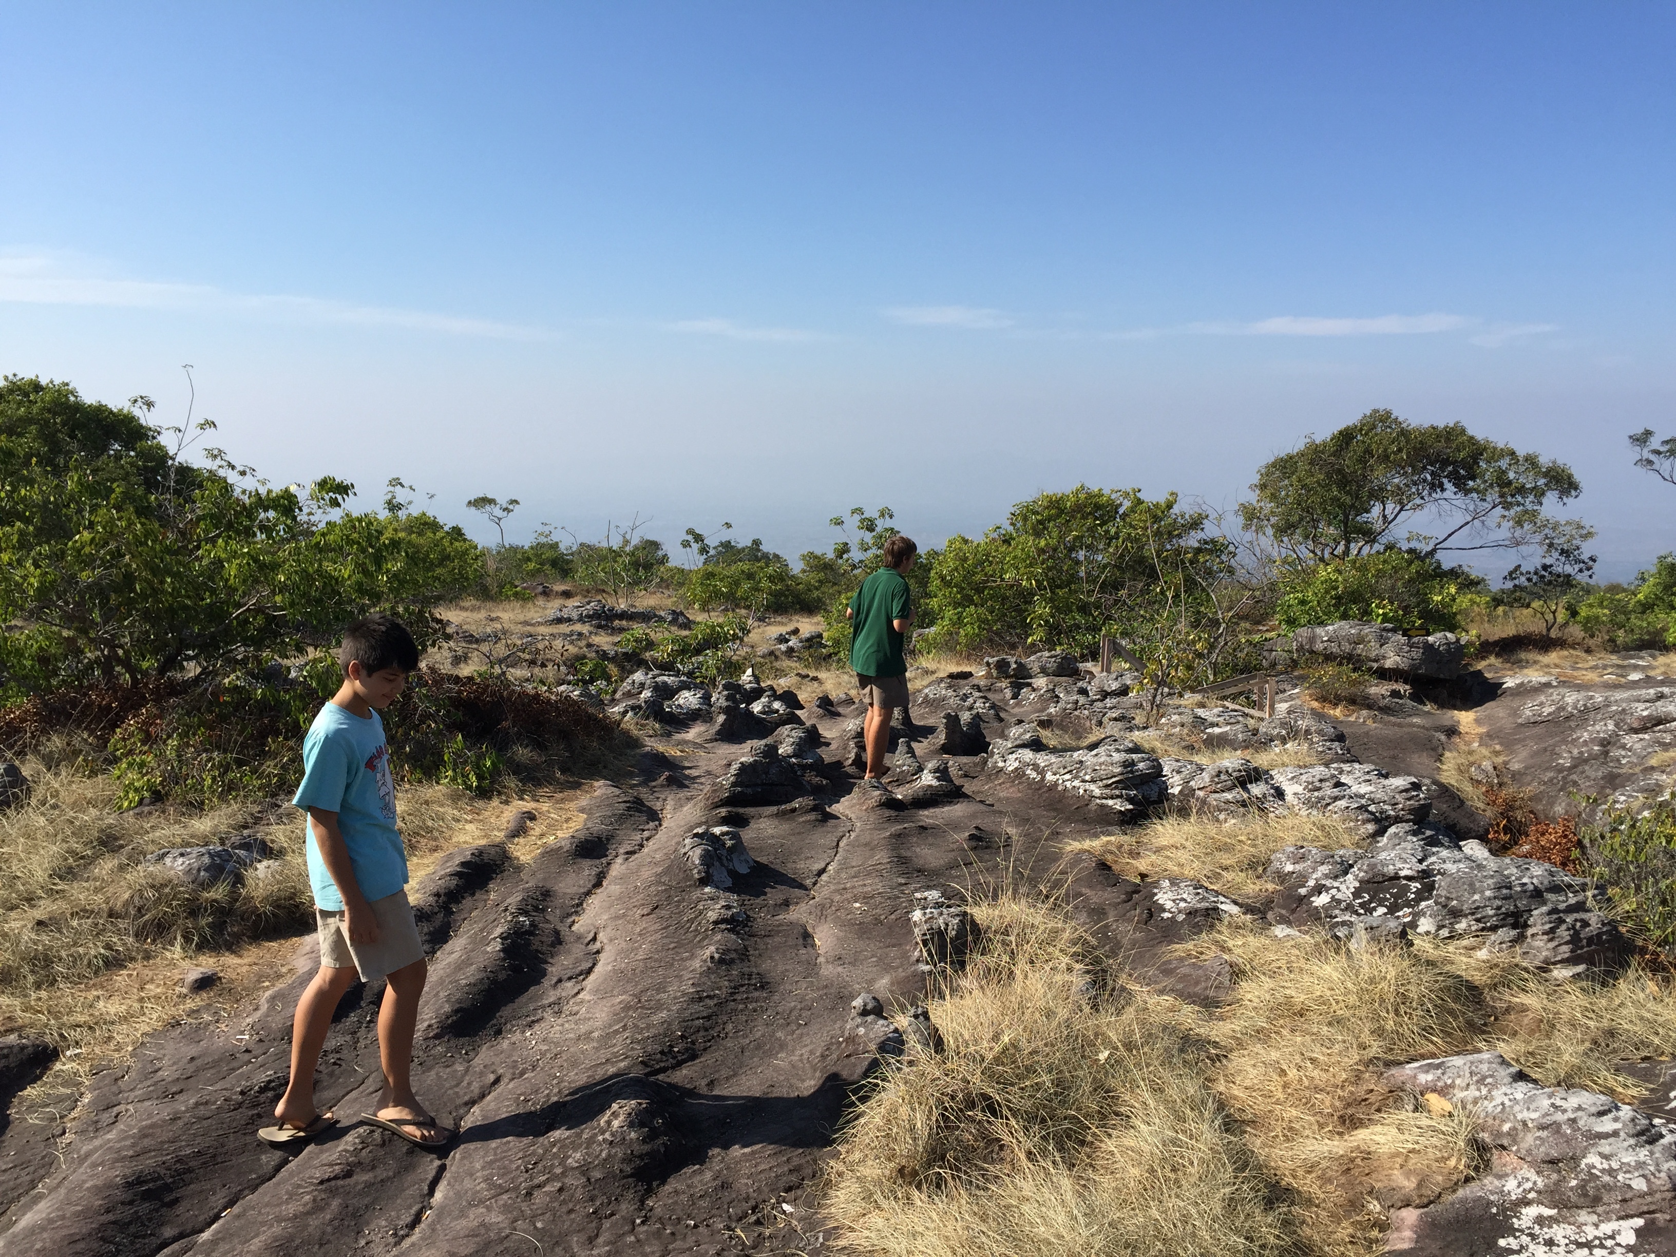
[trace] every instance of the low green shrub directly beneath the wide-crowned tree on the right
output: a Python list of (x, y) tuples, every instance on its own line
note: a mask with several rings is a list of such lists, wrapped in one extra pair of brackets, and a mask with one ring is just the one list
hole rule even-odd
[(1285, 561), (1275, 618), (1285, 632), (1337, 620), (1389, 623), (1410, 634), (1455, 632), (1482, 583), (1470, 572), (1408, 550), (1326, 563)]

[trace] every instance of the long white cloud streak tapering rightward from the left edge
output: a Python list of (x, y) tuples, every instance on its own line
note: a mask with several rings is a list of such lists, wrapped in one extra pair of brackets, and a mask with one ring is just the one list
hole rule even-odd
[(12, 253), (0, 256), (0, 302), (277, 317), (307, 323), (401, 327), (494, 340), (553, 340), (558, 337), (556, 332), (543, 327), (503, 323), (491, 318), (459, 318), (429, 310), (354, 305), (322, 297), (285, 293), (235, 293), (206, 283), (121, 280), (89, 273), (85, 266), (65, 266), (45, 255)]

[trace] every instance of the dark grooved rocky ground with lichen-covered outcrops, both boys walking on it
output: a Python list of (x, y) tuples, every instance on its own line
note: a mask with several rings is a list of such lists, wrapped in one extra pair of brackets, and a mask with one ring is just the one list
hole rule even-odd
[[(890, 793), (855, 781), (860, 712), (846, 699), (632, 679), (618, 709), (670, 731), (635, 779), (598, 786), (583, 826), (528, 861), (471, 846), (411, 888), (432, 952), (416, 1073), (463, 1126), (454, 1148), (432, 1155), (355, 1121), (377, 1091), (377, 989), (345, 997), (322, 1063), (318, 1091), (342, 1125), (295, 1155), (256, 1141), (317, 964), (305, 944), (297, 977), (255, 1007), (154, 1036), (84, 1096), (13, 1103), (0, 1257), (816, 1245), (813, 1183), (848, 1088), (880, 1051), (930, 1032), (915, 1011), (927, 959), (959, 957), (959, 903), (1006, 877), (1069, 887), (1113, 957), (1202, 1004), (1225, 994), (1227, 962), (1170, 947), (1234, 913), (1275, 930), (1324, 923), (1348, 945), (1482, 935), (1557, 975), (1627, 957), (1577, 883), (1478, 841), (1482, 818), (1436, 779), (1448, 712), (1394, 702), (1371, 724), (1334, 721), (1285, 696), (1270, 721), (1173, 704), (1143, 727), (1133, 677), (1014, 664), (920, 691)], [(1505, 739), (1515, 776), (1550, 793), (1627, 788), (1676, 739), (1676, 689), (1661, 684), (1510, 685), (1480, 726)], [(1158, 754), (1136, 741), (1148, 734), (1208, 753)], [(1282, 749), (1314, 763), (1259, 766)], [(1545, 756), (1565, 776), (1544, 773)], [(1066, 853), (1172, 804), (1329, 815), (1361, 845), (1287, 848), (1262, 903)], [(528, 821), (508, 820), (513, 835)], [(45, 1063), (27, 1053), (0, 1053), (8, 1094)], [(1502, 1123), (1492, 1172), (1396, 1210), (1393, 1245), (1676, 1250), (1676, 1128), (1658, 1081), (1642, 1111), (1540, 1088), (1493, 1054), (1393, 1071), (1389, 1086)], [(1552, 1247), (1577, 1237), (1596, 1247)]]

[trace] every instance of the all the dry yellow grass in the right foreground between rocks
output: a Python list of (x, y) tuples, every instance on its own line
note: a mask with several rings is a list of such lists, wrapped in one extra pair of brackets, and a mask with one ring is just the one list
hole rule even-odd
[[(1348, 841), (1319, 818), (1183, 816), (1079, 846), (1130, 875), (1255, 898), (1279, 846)], [(1642, 1088), (1619, 1061), (1676, 1056), (1676, 992), (1641, 970), (1555, 982), (1482, 955), (1478, 940), (1351, 950), (1235, 918), (1180, 949), (1232, 960), (1223, 1007), (1148, 992), (1099, 1002), (1086, 997), (1099, 964), (1054, 905), (1001, 892), (979, 915), (982, 960), (932, 1006), (945, 1053), (887, 1073), (841, 1143), (831, 1215), (855, 1250), (1198, 1252), (1220, 1227), (1208, 1250), (1371, 1257), (1391, 1208), (1436, 1198), (1483, 1161), (1468, 1113), (1389, 1091), (1386, 1066), (1500, 1051), (1545, 1084), (1631, 1099)], [(1135, 1128), (1131, 1094), (1156, 1106)], [(1084, 1123), (1068, 1131), (1037, 1106)], [(1244, 1148), (1223, 1143), (1229, 1130)], [(1168, 1222), (1146, 1193), (1168, 1202)], [(1254, 1203), (1270, 1198), (1289, 1203)], [(1115, 1223), (1123, 1212), (1145, 1234)]]

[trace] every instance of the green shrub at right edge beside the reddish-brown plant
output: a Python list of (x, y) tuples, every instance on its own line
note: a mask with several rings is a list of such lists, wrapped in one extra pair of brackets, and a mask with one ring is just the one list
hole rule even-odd
[(1585, 825), (1584, 866), (1606, 907), (1637, 942), (1676, 959), (1676, 803), (1607, 806)]

